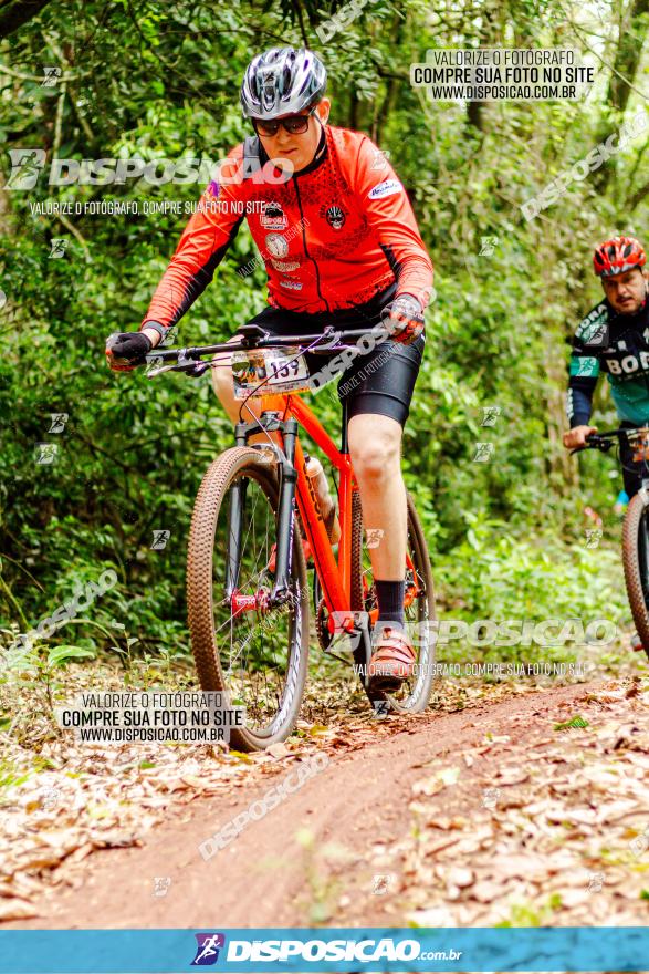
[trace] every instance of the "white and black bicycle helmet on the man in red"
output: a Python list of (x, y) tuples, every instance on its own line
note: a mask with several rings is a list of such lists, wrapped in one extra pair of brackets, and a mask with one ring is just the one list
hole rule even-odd
[(241, 85), (241, 107), (248, 118), (293, 115), (320, 101), (327, 72), (306, 48), (271, 48), (253, 58)]

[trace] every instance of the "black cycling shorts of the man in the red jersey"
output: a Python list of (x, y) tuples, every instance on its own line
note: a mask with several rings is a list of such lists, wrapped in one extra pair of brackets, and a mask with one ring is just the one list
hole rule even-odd
[[(331, 313), (305, 314), (281, 308), (264, 308), (249, 323), (258, 324), (264, 331), (281, 338), (317, 334), (327, 325), (336, 329), (366, 328), (369, 332), (381, 320), (380, 313), (394, 299), (395, 290), (396, 287), (392, 286), (368, 304)], [(425, 344), (423, 335), (411, 345), (388, 339), (366, 355), (358, 355), (338, 380), (338, 398), (346, 403), (347, 419), (369, 413), (389, 416), (404, 426), (410, 411)], [(306, 352), (304, 358), (310, 375), (316, 374), (336, 354), (314, 355)]]

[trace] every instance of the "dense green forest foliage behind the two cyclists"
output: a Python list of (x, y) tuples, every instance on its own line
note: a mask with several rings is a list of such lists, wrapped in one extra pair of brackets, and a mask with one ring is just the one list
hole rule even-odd
[[(323, 50), (315, 28), (339, 6), (52, 0), (0, 42), (0, 133), (8, 148), (44, 147), (50, 157), (216, 160), (248, 134), (237, 100), (251, 53), (306, 38), (329, 70), (332, 123), (365, 131), (390, 152), (436, 263), (438, 297), (404, 465), (442, 602), (468, 619), (626, 613), (609, 514), (615, 462), (584, 458), (580, 488), (559, 439), (565, 339), (598, 298), (587, 278), (590, 250), (615, 229), (645, 228), (647, 141), (608, 163), (598, 183), (574, 182), (526, 224), (520, 205), (583, 158), (603, 125), (621, 121), (606, 72), (579, 103), (432, 103), (408, 80), (408, 63), (429, 48), (583, 49), (594, 14), (527, 0), (491, 4), (485, 17), (480, 4), (378, 0)], [(611, 49), (616, 11), (605, 3), (596, 22)], [(641, 104), (645, 61), (628, 114)], [(64, 90), (41, 84), (43, 65), (62, 69)], [(1, 166), (8, 175), (8, 155)], [(74, 639), (67, 630), (53, 638), (48, 666), (64, 664), (71, 646), (87, 659), (108, 651), (126, 660), (133, 645), (151, 660), (187, 653), (192, 499), (231, 431), (207, 377), (114, 375), (103, 361), (106, 335), (144, 317), (186, 217), (64, 220), (32, 215), (30, 204), (193, 203), (200, 189), (142, 180), (57, 188), (42, 177), (32, 193), (0, 190), (8, 299), (0, 308), (0, 629), (9, 642), (74, 584), (108, 567), (119, 576), (75, 623)], [(64, 259), (50, 258), (52, 238), (66, 241)], [(481, 252), (483, 238), (495, 238), (491, 255)], [(237, 273), (255, 253), (242, 229), (180, 322), (179, 344), (226, 338), (263, 307), (262, 270)], [(336, 431), (332, 398), (313, 402)], [(483, 407), (493, 405), (495, 425), (482, 426)], [(603, 426), (614, 423), (605, 390), (597, 408)], [(49, 433), (52, 413), (69, 414), (64, 432)], [(59, 446), (52, 465), (35, 463), (43, 442)], [(484, 442), (493, 455), (478, 463)], [(595, 550), (584, 547), (586, 502), (605, 520)], [(151, 548), (157, 530), (170, 531), (164, 549)]]

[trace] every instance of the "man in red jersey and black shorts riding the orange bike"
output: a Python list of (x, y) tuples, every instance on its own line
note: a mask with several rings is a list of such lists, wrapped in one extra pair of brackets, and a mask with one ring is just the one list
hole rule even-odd
[[(153, 297), (139, 332), (107, 349), (115, 371), (142, 364), (211, 281), (243, 219), (268, 273), (269, 307), (252, 319), (273, 334), (367, 327), (390, 339), (342, 373), (348, 443), (370, 549), (379, 618), (369, 677), (392, 684), (414, 672), (405, 629), (406, 489), (402, 428), (425, 346), (432, 263), (404, 186), (362, 133), (327, 125), (326, 71), (305, 49), (274, 48), (252, 60), (241, 86), (255, 136), (229, 154), (201, 197)], [(310, 371), (322, 367), (311, 356)], [(308, 356), (307, 356), (308, 361)], [(214, 388), (233, 422), (230, 370)], [(377, 537), (375, 535), (375, 537)]]

